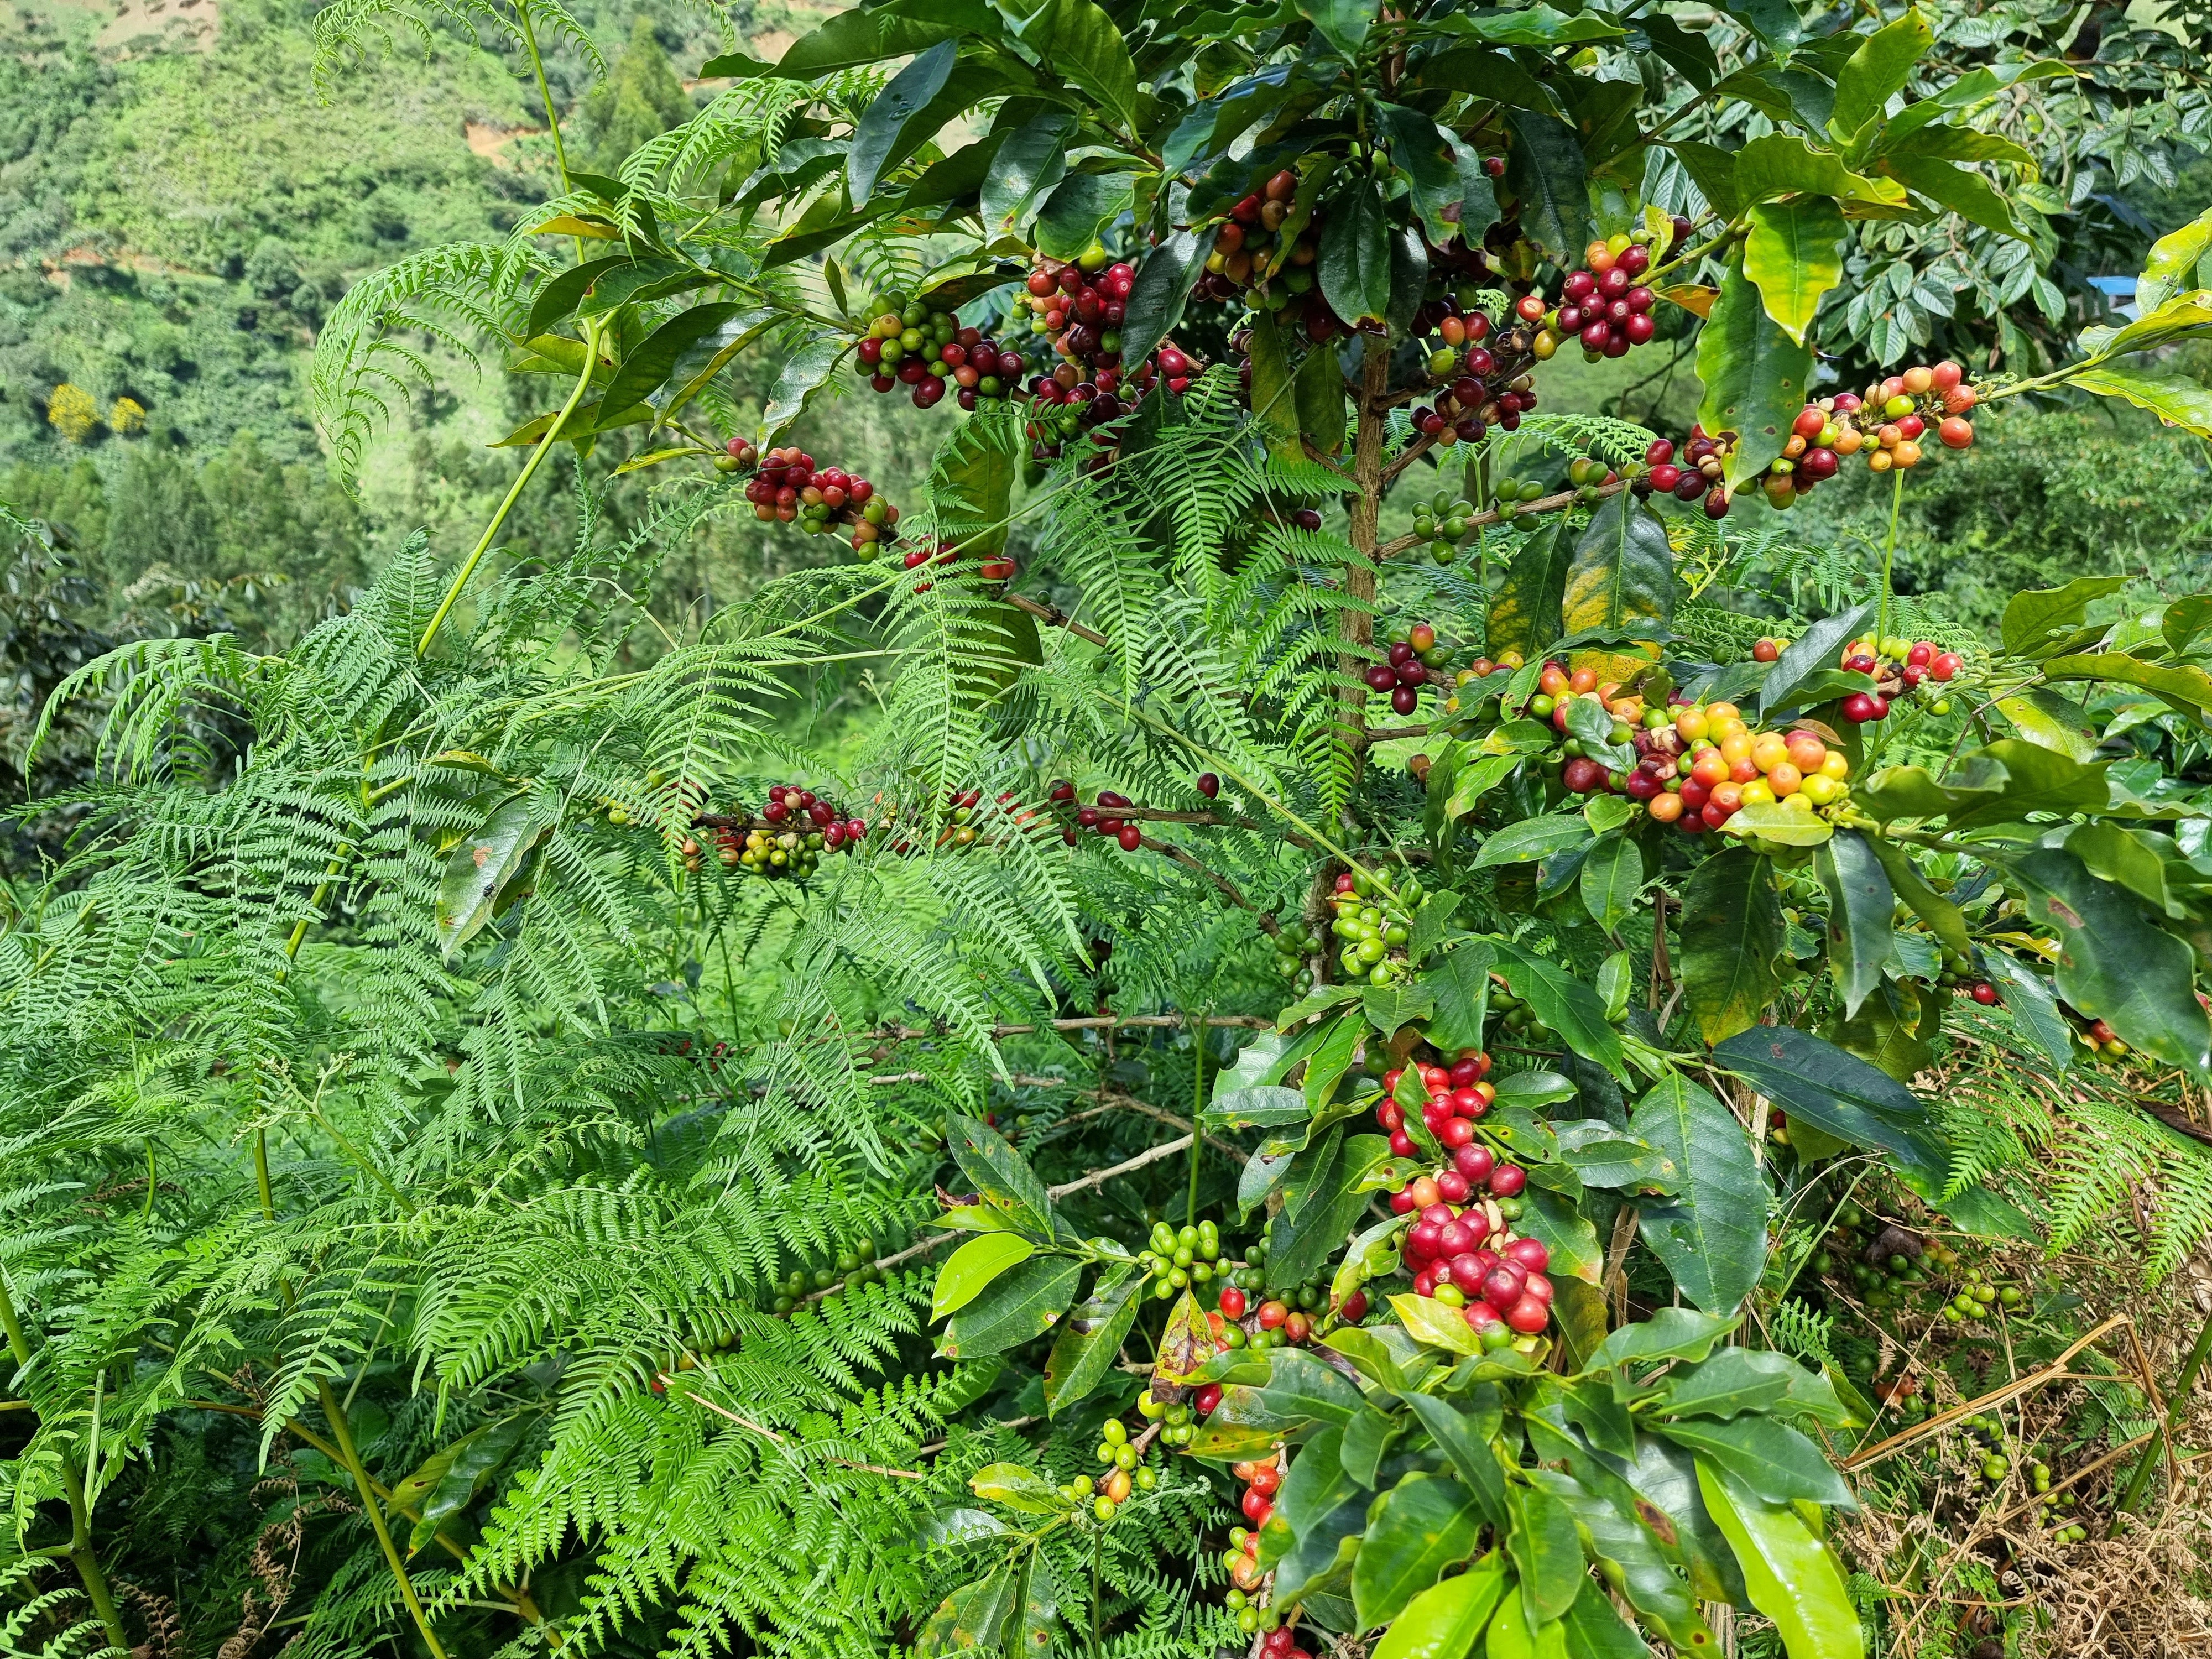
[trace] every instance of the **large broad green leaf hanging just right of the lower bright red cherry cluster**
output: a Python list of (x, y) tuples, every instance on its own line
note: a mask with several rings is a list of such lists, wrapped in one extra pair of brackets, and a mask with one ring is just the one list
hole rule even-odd
[(1681, 1073), (1652, 1084), (1628, 1121), (1683, 1172), (1672, 1199), (1637, 1206), (1644, 1243), (1683, 1296), (1734, 1314), (1767, 1261), (1767, 1181), (1750, 1133)]

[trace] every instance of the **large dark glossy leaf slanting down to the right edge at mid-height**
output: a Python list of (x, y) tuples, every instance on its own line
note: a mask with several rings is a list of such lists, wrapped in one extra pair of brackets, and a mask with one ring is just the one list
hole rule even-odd
[(2073, 852), (2042, 847), (2011, 869), (2028, 894), (2028, 920), (2059, 938), (2057, 993), (2130, 1048), (2199, 1079), (2212, 1075), (2212, 1020), (2197, 1002), (2194, 951)]

